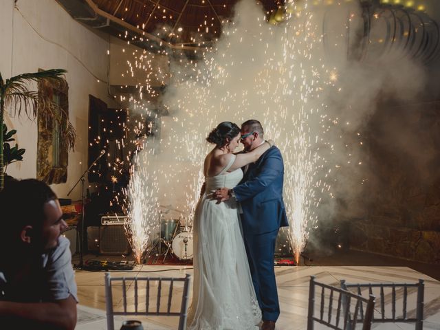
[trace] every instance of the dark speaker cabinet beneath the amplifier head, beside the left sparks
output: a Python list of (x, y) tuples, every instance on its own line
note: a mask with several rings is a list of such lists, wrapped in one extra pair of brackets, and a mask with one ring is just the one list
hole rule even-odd
[(128, 254), (130, 245), (124, 225), (101, 225), (99, 229), (99, 252), (102, 254)]

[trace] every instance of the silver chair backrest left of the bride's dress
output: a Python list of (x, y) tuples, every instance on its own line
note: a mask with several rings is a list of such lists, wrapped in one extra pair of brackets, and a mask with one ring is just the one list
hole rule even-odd
[[(172, 311), (173, 292), (180, 291), (180, 288), (175, 289), (174, 283), (180, 282), (184, 283), (183, 290), (179, 294), (179, 299), (181, 299), (180, 308), (178, 311)], [(118, 315), (179, 316), (178, 329), (186, 329), (189, 282), (189, 274), (186, 274), (184, 278), (168, 278), (142, 276), (112, 277), (110, 273), (105, 273), (107, 330), (114, 330), (113, 316)], [(156, 292), (156, 294), (152, 294), (152, 292)], [(118, 298), (122, 296), (122, 307), (120, 309), (115, 310), (113, 308), (113, 294), (117, 294)], [(150, 305), (155, 305), (155, 308)]]

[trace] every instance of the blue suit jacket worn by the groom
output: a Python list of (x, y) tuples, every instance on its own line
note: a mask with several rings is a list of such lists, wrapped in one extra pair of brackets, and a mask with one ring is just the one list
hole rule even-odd
[(234, 194), (241, 202), (246, 233), (263, 234), (288, 226), (283, 201), (284, 164), (276, 146), (250, 164)]

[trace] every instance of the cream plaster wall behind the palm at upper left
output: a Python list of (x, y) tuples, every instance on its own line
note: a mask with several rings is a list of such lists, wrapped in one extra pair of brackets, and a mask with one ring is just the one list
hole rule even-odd
[[(0, 1), (0, 72), (3, 79), (39, 69), (66, 69), (69, 84), (69, 118), (77, 133), (75, 151), (69, 153), (67, 182), (52, 185), (58, 197), (67, 192), (87, 169), (89, 94), (117, 107), (107, 93), (109, 40), (81, 25), (54, 0)], [(33, 86), (36, 89), (36, 85)], [(25, 115), (5, 118), (17, 129), (16, 140), (25, 148), (23, 162), (8, 166), (16, 178), (36, 177), (36, 120)], [(68, 198), (80, 199), (80, 185)]]

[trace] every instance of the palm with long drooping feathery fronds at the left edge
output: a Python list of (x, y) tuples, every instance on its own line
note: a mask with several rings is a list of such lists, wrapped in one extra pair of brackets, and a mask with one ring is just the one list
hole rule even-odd
[[(30, 89), (31, 83), (43, 83), (45, 80), (63, 84), (66, 72), (64, 69), (50, 69), (30, 74), (19, 74), (6, 80), (3, 80), (0, 73), (0, 146), (3, 146), (3, 118), (6, 109), (9, 109), (13, 116), (25, 113), (30, 119), (35, 118), (37, 110), (40, 109), (39, 115), (45, 115), (58, 122), (63, 142), (68, 150), (74, 148), (76, 132), (69, 122), (67, 113), (53, 102), (52, 98), (42, 96), (38, 91)], [(4, 186), (4, 166), (3, 148), (0, 147), (0, 190)]]

